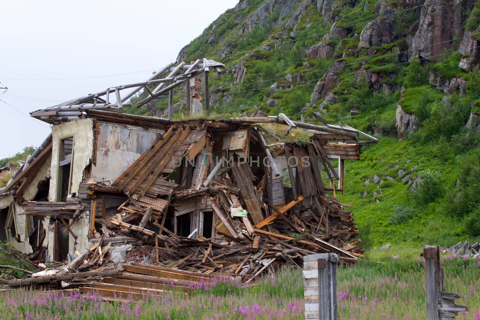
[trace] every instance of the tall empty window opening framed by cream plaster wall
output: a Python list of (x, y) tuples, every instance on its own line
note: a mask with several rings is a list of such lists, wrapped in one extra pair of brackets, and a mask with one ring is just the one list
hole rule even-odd
[(57, 201), (67, 201), (72, 180), (73, 137), (60, 140)]

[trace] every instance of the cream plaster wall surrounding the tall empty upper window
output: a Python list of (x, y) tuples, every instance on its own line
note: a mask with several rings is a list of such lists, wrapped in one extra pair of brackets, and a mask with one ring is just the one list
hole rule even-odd
[(79, 119), (52, 127), (52, 161), (49, 201), (57, 200), (58, 165), (60, 139), (73, 135), (72, 185), (70, 194), (78, 193), (78, 188), (84, 177), (84, 169), (90, 163), (93, 153), (93, 120)]

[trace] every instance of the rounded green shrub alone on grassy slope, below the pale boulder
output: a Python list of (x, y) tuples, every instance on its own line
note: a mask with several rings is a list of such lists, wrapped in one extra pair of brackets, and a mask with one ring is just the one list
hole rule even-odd
[(412, 200), (424, 207), (444, 196), (444, 185), (440, 173), (430, 170), (420, 172), (421, 181), (412, 188)]

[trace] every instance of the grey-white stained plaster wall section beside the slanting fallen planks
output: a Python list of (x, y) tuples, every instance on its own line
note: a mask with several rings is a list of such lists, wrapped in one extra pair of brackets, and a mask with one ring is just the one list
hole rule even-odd
[(92, 166), (94, 181), (115, 181), (142, 153), (153, 146), (165, 131), (116, 123), (97, 122), (96, 165)]

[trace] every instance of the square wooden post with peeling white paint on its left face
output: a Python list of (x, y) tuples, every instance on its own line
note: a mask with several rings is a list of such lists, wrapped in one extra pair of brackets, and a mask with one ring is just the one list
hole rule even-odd
[(339, 260), (333, 253), (303, 257), (305, 319), (337, 320), (336, 265)]

